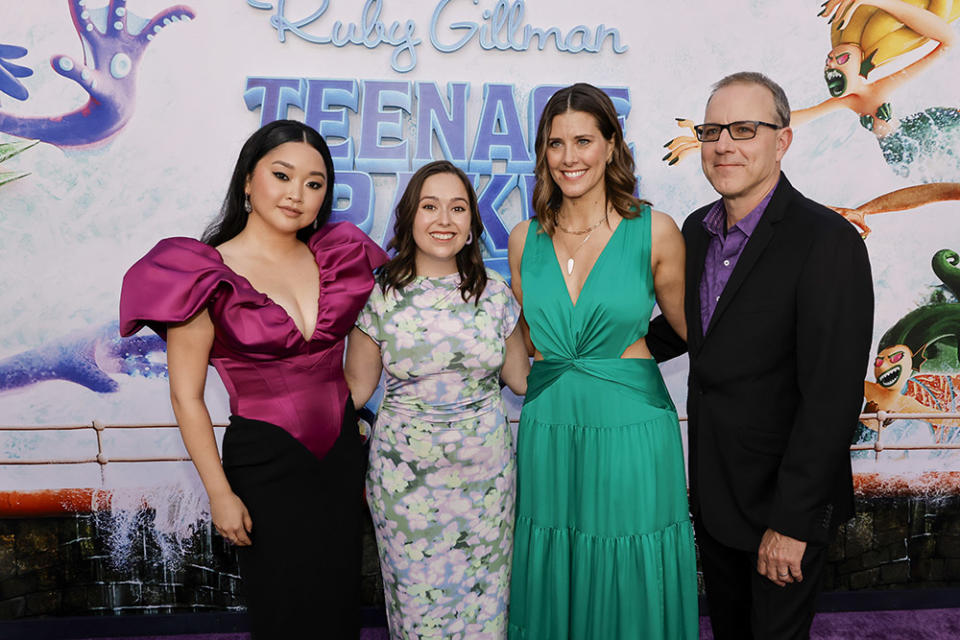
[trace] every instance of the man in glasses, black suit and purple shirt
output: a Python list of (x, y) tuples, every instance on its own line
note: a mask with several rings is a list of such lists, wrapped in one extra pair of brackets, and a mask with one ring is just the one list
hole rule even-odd
[(662, 317), (657, 360), (688, 350), (691, 511), (718, 640), (807, 638), (833, 527), (853, 513), (873, 285), (863, 241), (780, 172), (783, 90), (714, 86), (696, 127), (721, 198), (691, 214), (687, 345)]

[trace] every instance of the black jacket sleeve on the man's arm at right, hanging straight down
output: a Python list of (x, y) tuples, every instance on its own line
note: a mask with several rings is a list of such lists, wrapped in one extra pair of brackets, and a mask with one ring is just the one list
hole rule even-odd
[(849, 464), (873, 330), (873, 280), (853, 227), (819, 234), (797, 291), (800, 404), (777, 477), (768, 526), (809, 540)]

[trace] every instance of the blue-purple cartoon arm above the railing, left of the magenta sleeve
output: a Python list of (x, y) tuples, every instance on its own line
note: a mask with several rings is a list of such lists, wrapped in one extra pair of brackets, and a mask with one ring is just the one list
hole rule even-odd
[(0, 360), (0, 392), (44, 380), (67, 380), (96, 391), (112, 393), (119, 384), (110, 373), (162, 377), (167, 374), (163, 340), (156, 335), (121, 338), (116, 323), (68, 336)]

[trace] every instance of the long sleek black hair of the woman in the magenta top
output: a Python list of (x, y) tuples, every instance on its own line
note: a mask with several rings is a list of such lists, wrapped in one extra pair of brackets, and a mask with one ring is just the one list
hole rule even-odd
[(297, 238), (307, 242), (317, 229), (327, 223), (327, 220), (330, 219), (330, 212), (333, 211), (334, 184), (333, 158), (330, 156), (327, 143), (323, 141), (323, 137), (316, 129), (302, 122), (275, 120), (257, 129), (243, 143), (240, 156), (237, 158), (237, 164), (233, 168), (230, 186), (227, 187), (227, 197), (223, 199), (223, 205), (220, 207), (220, 214), (204, 230), (203, 236), (200, 238), (202, 242), (215, 247), (243, 231), (243, 228), (247, 226), (247, 216), (249, 215), (243, 208), (246, 201), (244, 188), (247, 178), (253, 174), (253, 168), (257, 166), (263, 156), (287, 142), (306, 142), (320, 152), (321, 157), (323, 157), (323, 164), (327, 168), (327, 193), (323, 196), (323, 204), (320, 205), (317, 222), (300, 229), (297, 232)]

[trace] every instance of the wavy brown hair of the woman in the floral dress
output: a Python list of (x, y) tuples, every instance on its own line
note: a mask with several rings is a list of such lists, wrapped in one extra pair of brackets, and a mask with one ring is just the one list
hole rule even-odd
[(470, 206), (470, 232), (473, 241), (464, 245), (457, 253), (457, 271), (460, 274), (460, 295), (466, 302), (471, 297), (480, 304), (480, 294), (487, 286), (487, 269), (483, 265), (480, 253), (480, 236), (483, 234), (483, 221), (477, 206), (477, 194), (470, 179), (463, 171), (446, 160), (437, 160), (420, 167), (407, 183), (400, 202), (397, 203), (397, 220), (393, 225), (393, 239), (387, 245), (388, 250), (396, 253), (380, 269), (380, 288), (384, 293), (390, 289), (401, 291), (417, 277), (417, 243), (413, 239), (413, 221), (420, 208), (420, 192), (423, 183), (438, 173), (452, 173), (463, 183)]

